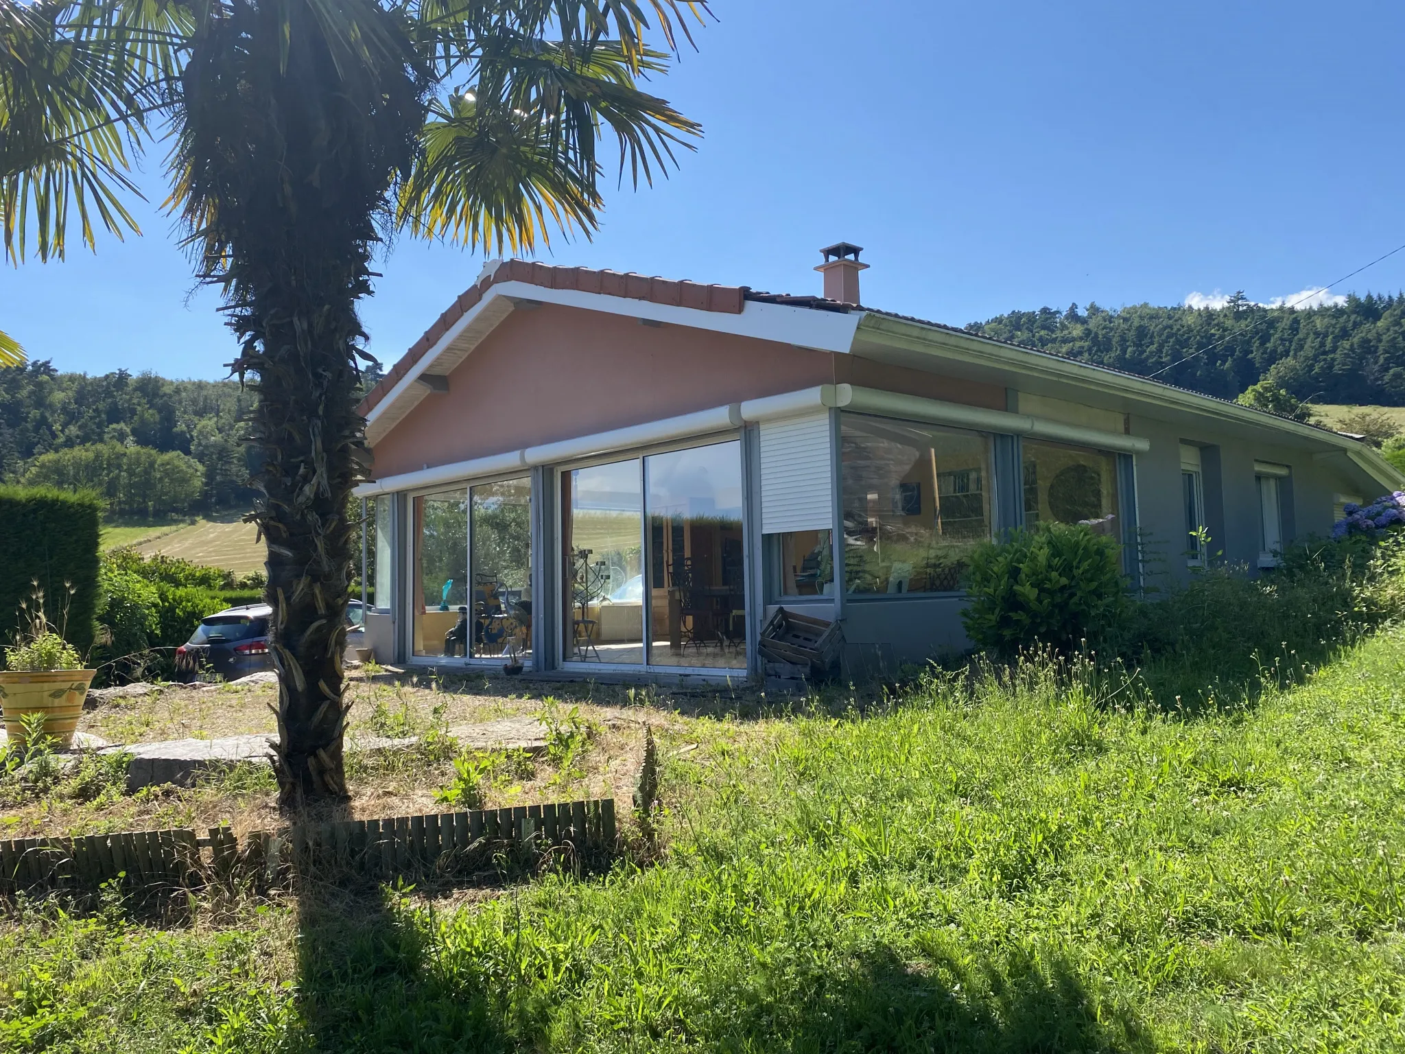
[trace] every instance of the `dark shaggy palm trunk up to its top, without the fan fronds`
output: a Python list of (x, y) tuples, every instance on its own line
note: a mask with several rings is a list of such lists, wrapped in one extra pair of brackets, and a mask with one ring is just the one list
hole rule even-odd
[(339, 39), (377, 51), (334, 56), (319, 11), (228, 0), (191, 48), (177, 150), (185, 222), (240, 339), (235, 370), (257, 378), (251, 519), (268, 545), (284, 808), (347, 793), (350, 499), (365, 461), (355, 305), (424, 119), (399, 24), (374, 0), (343, 0)]

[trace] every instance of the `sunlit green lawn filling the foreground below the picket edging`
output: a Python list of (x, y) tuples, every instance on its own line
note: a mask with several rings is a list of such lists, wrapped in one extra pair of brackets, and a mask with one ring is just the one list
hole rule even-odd
[(1043, 668), (674, 720), (652, 866), (466, 906), (34, 906), (0, 1048), (1398, 1051), (1402, 668), (1391, 630), (1194, 718)]

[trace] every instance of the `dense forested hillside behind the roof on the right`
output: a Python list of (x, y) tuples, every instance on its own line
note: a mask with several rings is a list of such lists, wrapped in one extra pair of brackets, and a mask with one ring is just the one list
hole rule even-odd
[[(1232, 399), (1269, 379), (1315, 403), (1405, 406), (1405, 295), (1291, 311), (1242, 297), (1225, 308), (1040, 308), (972, 322), (972, 333), (1151, 375)], [(1218, 343), (1224, 341), (1224, 343)]]

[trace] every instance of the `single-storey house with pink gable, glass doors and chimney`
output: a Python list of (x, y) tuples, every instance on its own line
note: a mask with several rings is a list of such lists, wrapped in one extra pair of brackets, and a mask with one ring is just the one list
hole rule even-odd
[(1127, 573), (1272, 566), (1374, 450), (1142, 377), (823, 295), (493, 261), (365, 398), (381, 661), (745, 676), (777, 606), (851, 669), (965, 645), (976, 542), (1048, 520)]

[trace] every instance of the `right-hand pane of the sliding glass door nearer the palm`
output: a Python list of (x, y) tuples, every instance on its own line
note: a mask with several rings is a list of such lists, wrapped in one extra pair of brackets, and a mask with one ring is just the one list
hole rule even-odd
[(531, 479), (472, 490), (473, 655), (531, 653)]

